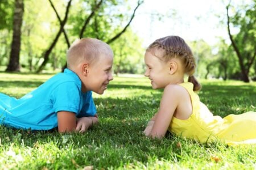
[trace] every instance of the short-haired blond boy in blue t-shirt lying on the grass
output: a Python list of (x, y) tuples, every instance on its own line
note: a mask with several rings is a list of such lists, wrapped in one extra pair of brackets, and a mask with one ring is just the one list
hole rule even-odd
[(92, 91), (103, 94), (112, 76), (113, 52), (108, 44), (85, 38), (67, 52), (68, 69), (20, 99), (0, 94), (0, 124), (19, 129), (60, 133), (86, 131), (97, 124)]

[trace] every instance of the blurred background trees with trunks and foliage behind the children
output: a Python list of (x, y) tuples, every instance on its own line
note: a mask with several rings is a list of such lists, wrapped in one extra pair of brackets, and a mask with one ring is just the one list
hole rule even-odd
[[(224, 22), (220, 17), (220, 24), (225, 25), (229, 40), (220, 37), (215, 45), (202, 39), (188, 42), (196, 57), (197, 76), (244, 82), (256, 79), (256, 1), (250, 2), (223, 5), (226, 16)], [(17, 6), (21, 3), (23, 6)], [(146, 46), (130, 27), (141, 5), (139, 0), (1, 0), (0, 70), (61, 71), (72, 42), (94, 37), (112, 46), (116, 75), (142, 74)], [(168, 17), (175, 17), (175, 11), (171, 13)]]

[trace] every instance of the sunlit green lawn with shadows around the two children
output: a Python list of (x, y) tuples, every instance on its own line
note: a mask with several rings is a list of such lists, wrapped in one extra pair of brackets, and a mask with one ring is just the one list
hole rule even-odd
[[(21, 97), (51, 74), (0, 73), (0, 92)], [(222, 117), (255, 111), (256, 83), (203, 80), (199, 95)], [(87, 133), (15, 130), (0, 126), (0, 169), (255, 169), (256, 145), (200, 144), (168, 133), (144, 137), (161, 90), (146, 78), (114, 78), (104, 95), (94, 94), (100, 124)], [(177, 145), (177, 143), (180, 144)]]

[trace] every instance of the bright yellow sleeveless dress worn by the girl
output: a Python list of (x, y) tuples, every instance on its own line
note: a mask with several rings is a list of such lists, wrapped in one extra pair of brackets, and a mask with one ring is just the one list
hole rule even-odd
[(179, 85), (188, 91), (193, 111), (187, 120), (173, 117), (168, 131), (201, 143), (218, 139), (228, 145), (256, 144), (256, 112), (229, 114), (224, 118), (213, 116), (193, 92), (192, 83)]

